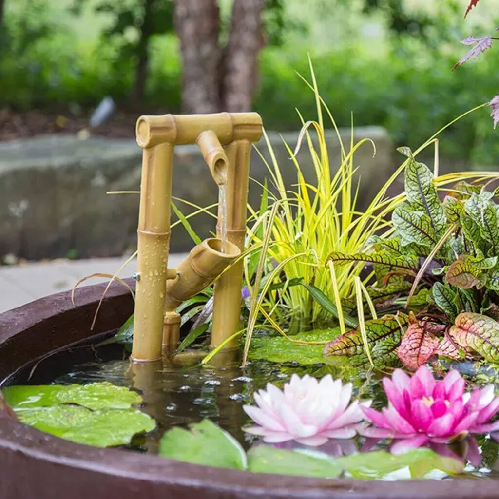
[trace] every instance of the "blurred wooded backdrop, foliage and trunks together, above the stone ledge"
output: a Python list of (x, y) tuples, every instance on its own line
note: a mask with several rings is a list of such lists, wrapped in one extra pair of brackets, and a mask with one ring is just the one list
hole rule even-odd
[[(295, 108), (314, 116), (296, 75), (307, 75), (307, 53), (337, 122), (348, 126), (353, 112), (356, 125), (382, 125), (396, 145), (417, 147), (499, 88), (499, 51), (451, 72), (458, 41), (496, 27), (485, 7), (463, 23), (466, 0), (3, 3), (0, 138), (71, 131), (105, 95), (118, 112), (99, 133), (114, 136), (133, 134), (138, 112), (250, 107), (268, 129), (296, 129)], [(462, 166), (497, 164), (496, 138), (484, 110), (441, 146)]]

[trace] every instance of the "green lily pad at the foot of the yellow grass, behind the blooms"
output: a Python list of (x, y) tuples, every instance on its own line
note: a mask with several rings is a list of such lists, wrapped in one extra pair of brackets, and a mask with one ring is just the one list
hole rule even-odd
[[(339, 327), (333, 329), (316, 329), (315, 331), (298, 333), (291, 338), (299, 341), (331, 341), (340, 334)], [(265, 359), (270, 362), (298, 362), (309, 366), (323, 364), (322, 351), (325, 344), (304, 345), (289, 341), (284, 336), (253, 337), (250, 344), (250, 359)]]

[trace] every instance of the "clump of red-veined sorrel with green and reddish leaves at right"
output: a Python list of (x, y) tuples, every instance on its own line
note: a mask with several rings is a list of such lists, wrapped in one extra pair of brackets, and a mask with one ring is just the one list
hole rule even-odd
[[(391, 365), (397, 360), (395, 354), (410, 369), (417, 369), (434, 355), (454, 360), (483, 357), (497, 362), (496, 193), (487, 191), (487, 183), (461, 181), (441, 202), (430, 169), (417, 162), (407, 148), (401, 151), (408, 156), (407, 202), (393, 211), (390, 237), (371, 238), (371, 251), (329, 255), (336, 267), (355, 261), (372, 266), (375, 280), (367, 286), (367, 294), (378, 311), (409, 311), (409, 315), (399, 313), (400, 327), (394, 327), (390, 334), (380, 329), (390, 316), (366, 321), (370, 348), (382, 354), (376, 356), (376, 363)], [(336, 338), (324, 353), (360, 355), (365, 361), (362, 345), (357, 329)]]

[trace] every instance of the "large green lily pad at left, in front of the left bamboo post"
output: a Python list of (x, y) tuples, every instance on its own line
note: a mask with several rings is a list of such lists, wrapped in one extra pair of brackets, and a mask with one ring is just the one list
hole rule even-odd
[(142, 397), (109, 382), (88, 385), (10, 386), (5, 400), (19, 420), (80, 444), (110, 447), (130, 443), (156, 423), (132, 404)]

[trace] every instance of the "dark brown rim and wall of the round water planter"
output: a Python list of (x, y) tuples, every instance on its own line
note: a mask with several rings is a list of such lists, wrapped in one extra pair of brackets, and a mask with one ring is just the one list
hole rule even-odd
[[(128, 280), (133, 285), (132, 280)], [(103, 302), (102, 314), (97, 320), (96, 330), (89, 330), (91, 310), (99, 301), (105, 284), (84, 286), (76, 291), (73, 306), (70, 292), (62, 292), (35, 300), (21, 307), (0, 314), (0, 358), (3, 349), (14, 342), (20, 335), (38, 334), (47, 323), (57, 321), (66, 323), (81, 319), (81, 311), (85, 320), (74, 324), (75, 330), (85, 339), (96, 333), (102, 334), (118, 328), (126, 314), (132, 309), (132, 300), (129, 291), (119, 284), (113, 284)], [(116, 309), (121, 307), (124, 313), (116, 317)], [(114, 322), (113, 322), (114, 321)], [(72, 322), (71, 322), (72, 323)], [(52, 336), (60, 335), (60, 331), (50, 329)], [(64, 333), (62, 333), (64, 334)], [(75, 333), (76, 334), (76, 333)], [(69, 339), (75, 339), (77, 335)], [(67, 341), (67, 338), (63, 338)], [(78, 340), (81, 341), (81, 340)], [(39, 356), (47, 352), (38, 352)], [(33, 356), (32, 356), (33, 357)], [(35, 357), (32, 358), (34, 360)], [(18, 365), (17, 368), (22, 367)], [(5, 379), (5, 373), (0, 371), (0, 379)], [(221, 469), (181, 463), (154, 455), (143, 455), (131, 451), (118, 449), (100, 449), (96, 447), (75, 444), (69, 441), (42, 433), (34, 428), (23, 425), (5, 415), (0, 415), (0, 497), (2, 495), (1, 482), (5, 475), (16, 475), (16, 467), (23, 473), (32, 467), (47, 465), (55, 467), (59, 472), (78, 471), (78, 476), (85, 476), (98, 483), (113, 483), (119, 486), (128, 484), (135, 492), (130, 496), (137, 497), (136, 487), (143, 487), (141, 491), (151, 492), (150, 497), (161, 497), (161, 494), (170, 493), (168, 497), (190, 497), (188, 494), (201, 494), (206, 498), (497, 498), (498, 481), (495, 479), (481, 480), (480, 486), (476, 479), (457, 479), (446, 481), (415, 480), (410, 482), (381, 482), (349, 479), (316, 479), (271, 474), (252, 474), (245, 471)], [(90, 478), (91, 477), (91, 478)], [(111, 480), (113, 479), (113, 480)], [(13, 480), (13, 478), (12, 478)], [(17, 480), (20, 480), (17, 474)], [(8, 479), (6, 480), (8, 482)], [(142, 484), (142, 485), (139, 485)], [(75, 483), (75, 486), (78, 484)], [(12, 485), (12, 487), (14, 487)], [(114, 487), (114, 486), (113, 486)], [(112, 489), (108, 489), (107, 496), (93, 494), (97, 497), (111, 497)], [(51, 493), (54, 489), (51, 490)], [(175, 492), (175, 493), (173, 493)], [(157, 495), (156, 495), (157, 494)], [(18, 496), (20, 497), (20, 496)], [(43, 496), (40, 497), (56, 497)], [(70, 497), (70, 496), (69, 496)], [(77, 496), (78, 498), (80, 496)], [(81, 496), (90, 497), (90, 496)], [(198, 496), (196, 496), (198, 497)]]

